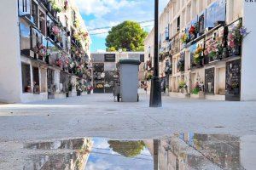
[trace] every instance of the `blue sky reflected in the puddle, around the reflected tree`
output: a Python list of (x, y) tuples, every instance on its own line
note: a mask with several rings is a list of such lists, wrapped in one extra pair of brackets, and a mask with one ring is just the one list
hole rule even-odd
[(147, 148), (132, 158), (120, 156), (109, 148), (108, 139), (93, 139), (93, 150), (86, 163), (86, 170), (153, 170), (153, 157)]

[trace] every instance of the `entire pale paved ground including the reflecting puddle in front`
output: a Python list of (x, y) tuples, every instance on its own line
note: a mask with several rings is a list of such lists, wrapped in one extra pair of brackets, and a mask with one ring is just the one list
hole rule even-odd
[(0, 105), (0, 169), (254, 170), (255, 112), (255, 102), (169, 97), (149, 109), (148, 96), (111, 94)]

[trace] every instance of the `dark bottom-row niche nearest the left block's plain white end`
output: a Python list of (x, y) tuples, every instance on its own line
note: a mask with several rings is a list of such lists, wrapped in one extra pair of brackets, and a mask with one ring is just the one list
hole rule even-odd
[(21, 71), (22, 71), (22, 91), (23, 93), (32, 93), (30, 65), (21, 63)]

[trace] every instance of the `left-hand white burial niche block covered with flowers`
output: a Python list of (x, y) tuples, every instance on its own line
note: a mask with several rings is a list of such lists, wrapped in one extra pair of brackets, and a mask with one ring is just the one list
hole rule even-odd
[(0, 101), (84, 94), (90, 36), (74, 0), (10, 0), (0, 8)]

